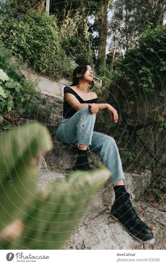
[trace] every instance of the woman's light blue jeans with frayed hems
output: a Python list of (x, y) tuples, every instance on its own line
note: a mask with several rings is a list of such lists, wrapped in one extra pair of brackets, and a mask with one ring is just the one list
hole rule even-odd
[(55, 135), (60, 142), (88, 145), (89, 151), (100, 155), (102, 163), (111, 171), (110, 179), (114, 185), (116, 181), (125, 179), (119, 150), (111, 136), (93, 131), (95, 120), (96, 114), (85, 106), (72, 117), (63, 118)]

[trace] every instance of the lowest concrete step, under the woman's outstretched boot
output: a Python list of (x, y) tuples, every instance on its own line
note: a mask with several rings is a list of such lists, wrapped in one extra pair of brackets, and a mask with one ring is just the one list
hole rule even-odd
[[(154, 210), (142, 202), (132, 204), (137, 213), (142, 212), (144, 208), (149, 211)], [(121, 223), (111, 223), (114, 220), (108, 219), (110, 209), (111, 205), (103, 208), (100, 212), (96, 211), (95, 214), (85, 213), (62, 249), (165, 249), (165, 241), (163, 240), (166, 236), (165, 214), (157, 213), (159, 212), (158, 209), (155, 210), (155, 216), (153, 212), (149, 211), (142, 214), (144, 220), (156, 227), (153, 230), (154, 244), (146, 245), (131, 237)]]

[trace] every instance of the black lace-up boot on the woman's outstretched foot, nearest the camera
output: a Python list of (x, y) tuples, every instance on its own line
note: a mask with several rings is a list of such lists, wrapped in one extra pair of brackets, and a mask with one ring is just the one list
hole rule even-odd
[(119, 192), (118, 199), (111, 207), (110, 217), (121, 222), (126, 231), (135, 239), (145, 244), (153, 244), (154, 234), (138, 217), (130, 198), (132, 198), (130, 193)]

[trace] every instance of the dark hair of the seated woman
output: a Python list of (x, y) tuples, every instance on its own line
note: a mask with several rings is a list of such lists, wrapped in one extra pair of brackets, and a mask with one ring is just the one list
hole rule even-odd
[[(74, 69), (74, 72), (73, 72), (73, 83), (70, 86), (77, 86), (78, 85), (79, 79), (83, 79), (84, 78), (84, 74), (88, 70), (88, 68), (87, 68), (88, 65), (90, 65), (90, 64), (88, 64), (87, 62), (85, 62), (85, 63), (82, 63), (82, 64), (78, 65)], [(77, 73), (80, 75), (79, 78), (76, 75)], [(92, 87), (94, 86), (93, 80), (89, 84), (91, 85), (90, 88), (89, 88), (89, 90), (91, 90)]]

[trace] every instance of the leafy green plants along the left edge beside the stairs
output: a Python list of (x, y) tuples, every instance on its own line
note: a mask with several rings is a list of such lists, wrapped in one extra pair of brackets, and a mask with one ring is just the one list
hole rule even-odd
[[(11, 53), (0, 44), (0, 123), (2, 129), (11, 129), (21, 115), (40, 122), (49, 123), (52, 104), (41, 104), (40, 91), (27, 81), (18, 67), (10, 61)], [(44, 103), (44, 101), (42, 101)], [(10, 118), (9, 120), (7, 120)]]

